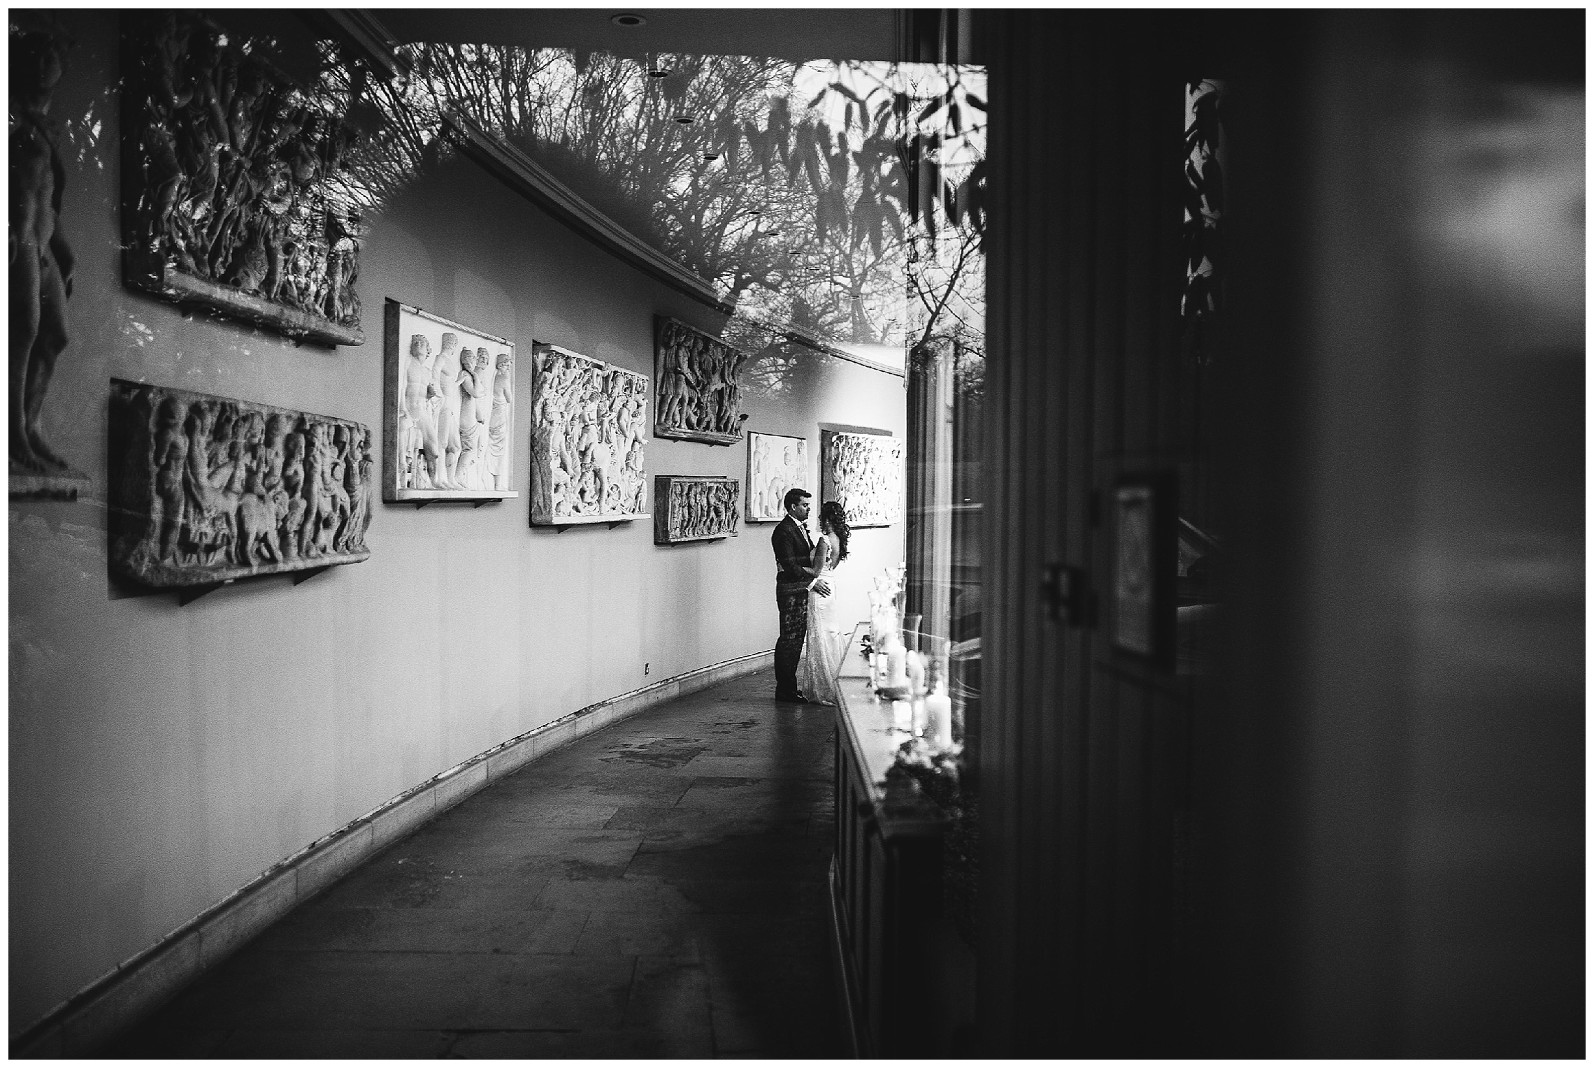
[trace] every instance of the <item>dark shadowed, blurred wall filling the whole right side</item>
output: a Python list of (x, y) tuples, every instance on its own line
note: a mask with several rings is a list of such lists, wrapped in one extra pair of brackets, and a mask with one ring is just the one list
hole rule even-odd
[[(1581, 1055), (1584, 14), (979, 14), (985, 1052)], [(1229, 100), (1202, 679), (1109, 647), (1092, 505), (1188, 459), (1186, 77)]]

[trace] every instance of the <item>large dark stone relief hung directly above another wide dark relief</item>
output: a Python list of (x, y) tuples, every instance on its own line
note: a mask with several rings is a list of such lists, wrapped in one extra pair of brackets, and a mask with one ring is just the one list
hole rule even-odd
[(214, 22), (123, 14), (128, 285), (327, 344), (362, 344), (355, 134)]

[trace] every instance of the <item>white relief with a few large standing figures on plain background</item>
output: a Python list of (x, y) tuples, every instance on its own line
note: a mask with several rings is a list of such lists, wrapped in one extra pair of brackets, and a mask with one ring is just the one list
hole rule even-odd
[(515, 346), (389, 300), (383, 501), (502, 501), (515, 485)]

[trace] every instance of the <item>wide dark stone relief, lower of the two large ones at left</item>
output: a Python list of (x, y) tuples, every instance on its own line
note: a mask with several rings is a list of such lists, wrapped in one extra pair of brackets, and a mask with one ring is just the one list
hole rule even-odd
[(164, 588), (359, 563), (371, 446), (349, 419), (113, 378), (112, 567)]

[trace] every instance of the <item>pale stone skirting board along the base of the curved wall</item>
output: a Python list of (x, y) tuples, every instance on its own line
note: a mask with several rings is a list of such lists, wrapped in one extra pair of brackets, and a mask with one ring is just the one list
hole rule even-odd
[(11, 1057), (92, 1057), (204, 971), (226, 960), (373, 854), (544, 754), (638, 713), (770, 666), (773, 650), (687, 671), (510, 738), (414, 786), (274, 864), (11, 1039)]

